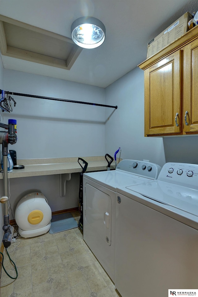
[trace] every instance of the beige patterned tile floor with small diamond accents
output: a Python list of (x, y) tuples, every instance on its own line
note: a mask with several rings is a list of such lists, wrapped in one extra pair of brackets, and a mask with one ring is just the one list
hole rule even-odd
[[(79, 212), (73, 212), (79, 220)], [(114, 284), (83, 241), (79, 228), (33, 238), (9, 247), (18, 278), (2, 269), (1, 297), (118, 297)], [(15, 243), (16, 245), (16, 243)], [(4, 249), (4, 267), (15, 277)]]

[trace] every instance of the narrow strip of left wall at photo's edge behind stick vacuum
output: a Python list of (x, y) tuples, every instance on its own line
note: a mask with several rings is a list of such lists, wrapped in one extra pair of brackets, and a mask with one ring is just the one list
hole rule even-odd
[[(2, 64), (2, 59), (1, 59), (1, 55), (0, 55), (0, 89), (3, 89), (3, 64)], [(0, 111), (0, 117), (1, 123), (4, 123), (3, 121), (3, 116), (2, 116), (2, 111)], [(4, 131), (4, 129), (0, 128), (1, 131)], [(1, 147), (0, 147), (0, 156), (1, 156)], [(3, 183), (0, 183), (0, 196), (2, 196), (3, 193)], [(3, 238), (3, 230), (2, 230), (2, 226), (3, 226), (3, 216), (4, 216), (4, 205), (0, 203), (0, 240), (1, 238)], [(1, 243), (0, 243), (1, 246)]]

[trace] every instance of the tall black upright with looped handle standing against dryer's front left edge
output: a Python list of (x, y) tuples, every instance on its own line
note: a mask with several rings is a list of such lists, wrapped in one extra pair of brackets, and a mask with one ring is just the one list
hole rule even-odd
[[(82, 161), (84, 166), (79, 162)], [(79, 205), (80, 205), (80, 220), (79, 220), (79, 227), (83, 230), (83, 173), (87, 170), (88, 163), (82, 159), (78, 158), (78, 164), (82, 168), (82, 172), (80, 172), (80, 186), (79, 186)]]

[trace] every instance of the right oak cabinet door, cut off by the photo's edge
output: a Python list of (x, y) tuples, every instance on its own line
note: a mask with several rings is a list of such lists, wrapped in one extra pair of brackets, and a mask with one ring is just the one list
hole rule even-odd
[(184, 47), (183, 122), (184, 132), (198, 131), (198, 40)]

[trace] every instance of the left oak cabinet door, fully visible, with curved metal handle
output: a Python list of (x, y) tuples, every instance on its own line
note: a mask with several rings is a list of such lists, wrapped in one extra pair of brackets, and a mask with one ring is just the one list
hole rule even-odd
[(182, 131), (180, 65), (178, 50), (144, 72), (145, 136)]

